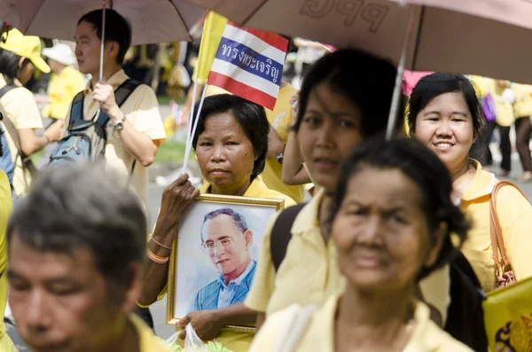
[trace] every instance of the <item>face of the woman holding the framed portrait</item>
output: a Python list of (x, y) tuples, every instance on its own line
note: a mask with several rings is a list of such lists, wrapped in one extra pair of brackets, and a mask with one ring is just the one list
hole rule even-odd
[(207, 118), (196, 156), (207, 182), (228, 194), (249, 182), (257, 159), (251, 141), (231, 113)]

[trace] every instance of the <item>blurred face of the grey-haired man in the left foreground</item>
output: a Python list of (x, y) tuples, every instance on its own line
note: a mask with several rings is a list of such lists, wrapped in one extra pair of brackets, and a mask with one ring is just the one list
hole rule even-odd
[(15, 233), (8, 278), (13, 317), (34, 352), (98, 350), (127, 317), (113, 304), (87, 248), (39, 252)]

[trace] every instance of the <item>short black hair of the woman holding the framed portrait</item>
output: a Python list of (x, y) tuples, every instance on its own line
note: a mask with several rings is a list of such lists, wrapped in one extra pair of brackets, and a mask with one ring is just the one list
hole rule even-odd
[[(194, 114), (198, 111), (199, 104), (196, 104)], [(270, 122), (268, 122), (266, 112), (262, 106), (231, 94), (218, 94), (205, 98), (200, 112), (198, 128), (192, 139), (194, 150), (198, 145), (200, 134), (205, 131), (205, 123), (208, 118), (219, 113), (231, 113), (239, 121), (240, 128), (253, 145), (254, 153), (258, 156), (257, 160), (254, 161), (254, 168), (251, 174), (251, 180), (253, 181), (256, 176), (262, 173), (266, 165), (268, 134), (270, 133)], [(195, 118), (196, 116), (193, 116), (191, 121)]]

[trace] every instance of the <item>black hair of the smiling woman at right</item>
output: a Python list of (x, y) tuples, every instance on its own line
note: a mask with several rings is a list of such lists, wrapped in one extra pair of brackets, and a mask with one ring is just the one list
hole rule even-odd
[(473, 84), (462, 74), (428, 74), (421, 78), (412, 90), (408, 108), (408, 124), (412, 131), (416, 129), (416, 120), (421, 110), (432, 99), (445, 93), (460, 92), (473, 117), (473, 130), (478, 136), (484, 126), (484, 113)]

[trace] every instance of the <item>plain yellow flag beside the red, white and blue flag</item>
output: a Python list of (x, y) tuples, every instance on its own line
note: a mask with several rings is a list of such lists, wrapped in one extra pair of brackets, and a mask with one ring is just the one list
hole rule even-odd
[(210, 69), (215, 61), (216, 51), (222, 40), (223, 29), (227, 24), (227, 19), (215, 12), (208, 12), (205, 24), (203, 25), (203, 35), (201, 36), (200, 55), (198, 64), (194, 70), (193, 79), (207, 80)]

